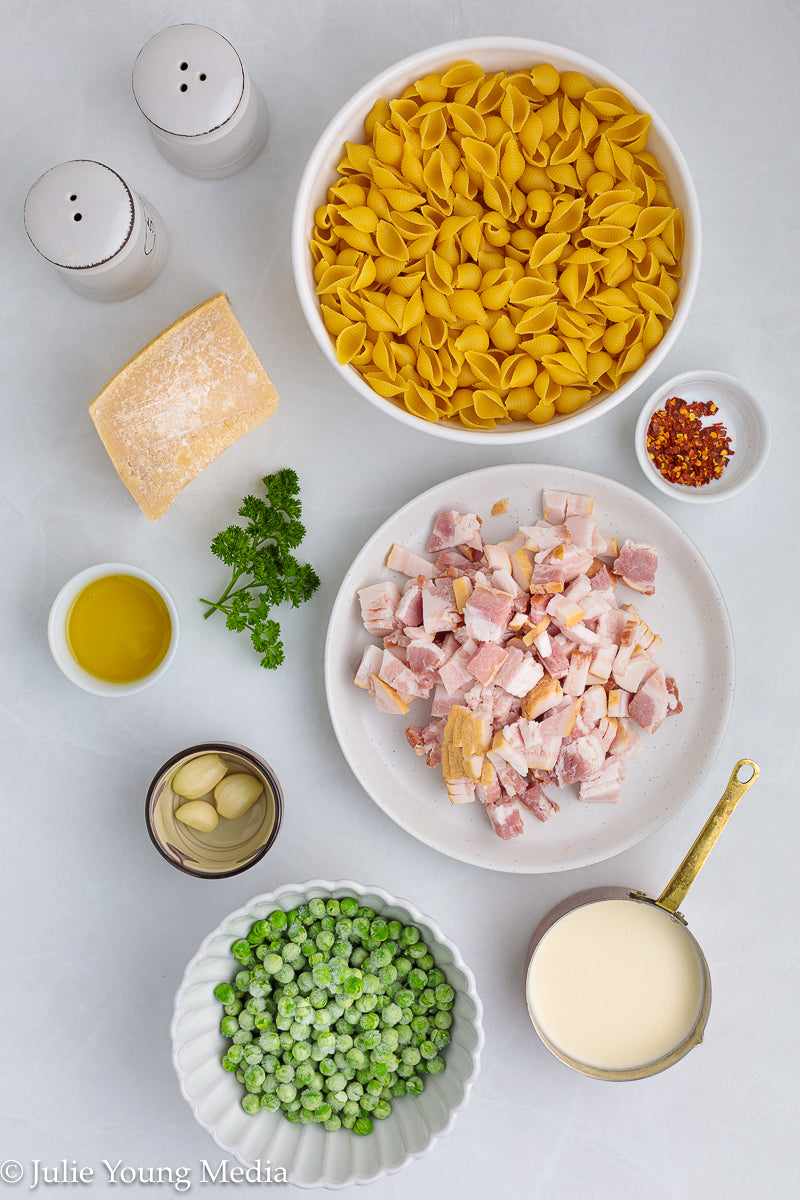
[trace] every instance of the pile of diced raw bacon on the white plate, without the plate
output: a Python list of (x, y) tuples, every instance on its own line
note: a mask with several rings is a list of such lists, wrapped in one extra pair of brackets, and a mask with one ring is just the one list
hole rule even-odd
[(443, 512), (433, 559), (391, 547), (402, 594), (390, 581), (357, 593), (383, 647), (366, 647), (355, 684), (386, 713), (428, 701), (409, 745), (441, 768), (451, 803), (480, 800), (504, 840), (523, 832), (521, 809), (539, 821), (559, 811), (549, 787), (618, 803), (643, 736), (682, 709), (655, 661), (661, 638), (615, 592), (622, 582), (651, 594), (655, 547), (628, 540), (619, 551), (589, 497), (542, 500), (543, 520), (492, 544), (476, 514)]

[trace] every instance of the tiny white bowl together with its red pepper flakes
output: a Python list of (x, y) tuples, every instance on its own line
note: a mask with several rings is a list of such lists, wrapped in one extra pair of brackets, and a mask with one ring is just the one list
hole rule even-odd
[(650, 482), (693, 504), (735, 496), (770, 449), (756, 392), (720, 371), (685, 371), (661, 384), (639, 414), (636, 455)]

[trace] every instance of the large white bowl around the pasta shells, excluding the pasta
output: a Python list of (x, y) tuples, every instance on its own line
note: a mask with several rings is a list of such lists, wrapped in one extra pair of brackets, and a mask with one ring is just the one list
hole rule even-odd
[[(344, 143), (365, 140), (363, 120), (377, 100), (392, 100), (399, 96), (404, 88), (414, 80), (429, 73), (441, 72), (452, 62), (464, 59), (477, 62), (487, 71), (511, 71), (535, 66), (540, 62), (552, 62), (559, 71), (583, 72), (599, 86), (618, 88), (631, 100), (638, 112), (649, 113), (652, 118), (648, 149), (658, 160), (673, 200), (684, 217), (685, 246), (680, 293), (674, 304), (673, 320), (667, 326), (661, 342), (648, 354), (639, 370), (632, 372), (615, 391), (601, 392), (578, 412), (566, 415), (557, 414), (553, 420), (545, 425), (535, 425), (531, 421), (511, 421), (493, 430), (469, 430), (456, 421), (438, 421), (437, 424), (425, 421), (407, 412), (401, 404), (385, 400), (369, 388), (355, 367), (342, 366), (338, 362), (331, 336), (320, 314), (314, 289), (313, 263), (309, 252), (314, 214), (326, 202), (327, 188), (336, 179), (336, 168), (342, 158)], [(564, 433), (566, 430), (577, 428), (607, 413), (640, 388), (658, 364), (663, 361), (686, 322), (697, 290), (700, 268), (700, 214), (692, 176), (675, 139), (661, 116), (654, 112), (652, 106), (624, 79), (601, 66), (600, 62), (563, 46), (553, 46), (549, 42), (539, 42), (528, 37), (474, 37), (433, 46), (387, 67), (386, 71), (381, 71), (374, 79), (365, 84), (336, 113), (312, 150), (300, 181), (291, 229), (291, 263), (300, 304), (323, 353), (342, 379), (355, 388), (381, 413), (393, 416), (413, 428), (432, 433), (434, 437), (456, 442), (485, 443), (487, 445), (537, 442), (542, 438), (554, 437), (557, 433)]]

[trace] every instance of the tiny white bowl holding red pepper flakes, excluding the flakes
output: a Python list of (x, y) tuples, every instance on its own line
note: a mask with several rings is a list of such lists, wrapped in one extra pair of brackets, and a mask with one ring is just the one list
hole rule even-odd
[[(712, 401), (717, 412), (704, 418), (704, 424), (721, 422), (730, 438), (733, 454), (727, 467), (718, 479), (700, 487), (669, 482), (648, 455), (650, 419), (673, 396), (687, 403)], [(766, 409), (756, 392), (739, 379), (720, 371), (684, 371), (660, 384), (639, 413), (634, 434), (636, 456), (654, 487), (674, 500), (686, 500), (688, 504), (712, 504), (740, 492), (764, 466), (770, 440)]]

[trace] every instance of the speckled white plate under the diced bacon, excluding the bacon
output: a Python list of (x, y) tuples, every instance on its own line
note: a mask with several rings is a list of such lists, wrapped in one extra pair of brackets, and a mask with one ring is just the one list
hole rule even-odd
[[(425, 724), (429, 706), (417, 701), (405, 716), (379, 713), (353, 684), (369, 635), (360, 619), (356, 592), (378, 580), (404, 578), (386, 570), (393, 541), (417, 553), (437, 515), (446, 509), (477, 512), (483, 536), (498, 541), (541, 516), (543, 487), (582, 492), (595, 500), (603, 533), (648, 541), (658, 548), (656, 594), (640, 596), (620, 587), (661, 634), (658, 664), (675, 677), (684, 712), (652, 734), (628, 761), (619, 804), (582, 804), (576, 788), (553, 790), (561, 811), (542, 824), (524, 812), (525, 832), (504, 842), (492, 832), (482, 805), (452, 808), (440, 770), (432, 770), (405, 740), (405, 727)], [(507, 499), (504, 516), (491, 516)], [(561, 871), (599, 863), (628, 850), (658, 829), (688, 800), (717, 751), (734, 694), (730, 619), (708, 563), (684, 530), (638, 492), (601, 475), (536, 464), (469, 472), (410, 500), (372, 535), (348, 570), (333, 604), (325, 646), (325, 686), (342, 751), (365, 788), (397, 824), (434, 850), (495, 871)]]

